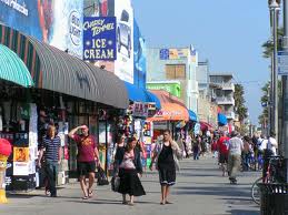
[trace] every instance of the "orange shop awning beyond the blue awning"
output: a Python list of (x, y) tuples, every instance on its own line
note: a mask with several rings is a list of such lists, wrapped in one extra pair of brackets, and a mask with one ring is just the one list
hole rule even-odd
[(166, 91), (151, 91), (160, 100), (161, 110), (147, 121), (189, 121), (189, 113), (185, 104)]

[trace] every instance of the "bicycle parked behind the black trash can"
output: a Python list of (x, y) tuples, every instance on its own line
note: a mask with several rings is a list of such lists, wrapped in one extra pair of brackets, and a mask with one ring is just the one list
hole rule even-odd
[(258, 186), (259, 183), (268, 184), (276, 182), (284, 182), (285, 176), (281, 175), (282, 157), (281, 156), (270, 156), (269, 164), (267, 167), (266, 176), (256, 180), (251, 186), (251, 197), (252, 201), (260, 205), (261, 190)]

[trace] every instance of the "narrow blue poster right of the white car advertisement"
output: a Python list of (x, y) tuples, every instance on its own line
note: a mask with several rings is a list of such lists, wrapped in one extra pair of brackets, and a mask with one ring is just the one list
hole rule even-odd
[(146, 43), (133, 20), (133, 84), (146, 89)]

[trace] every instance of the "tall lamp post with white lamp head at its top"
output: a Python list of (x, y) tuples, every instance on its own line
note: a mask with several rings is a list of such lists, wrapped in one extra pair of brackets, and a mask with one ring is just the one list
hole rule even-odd
[(276, 140), (278, 140), (278, 75), (277, 75), (277, 29), (278, 29), (278, 11), (279, 11), (279, 4), (276, 2), (276, 0), (270, 1), (269, 4), (271, 19), (272, 19), (272, 41), (274, 41), (274, 53), (272, 53), (272, 129), (276, 134)]

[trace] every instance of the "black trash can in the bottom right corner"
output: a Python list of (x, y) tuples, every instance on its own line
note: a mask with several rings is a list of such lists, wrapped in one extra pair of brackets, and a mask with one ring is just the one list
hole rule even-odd
[(288, 184), (259, 183), (261, 191), (261, 215), (287, 215), (288, 214)]

